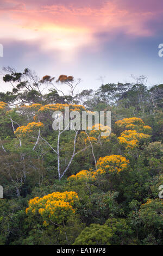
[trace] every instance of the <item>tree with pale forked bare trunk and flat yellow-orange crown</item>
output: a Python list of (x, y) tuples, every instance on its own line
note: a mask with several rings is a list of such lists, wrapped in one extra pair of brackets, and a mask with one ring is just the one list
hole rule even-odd
[[(36, 139), (33, 150), (35, 150), (36, 145), (39, 143), (39, 141), (43, 141), (45, 144), (48, 145), (48, 147), (53, 151), (54, 154), (57, 155), (57, 170), (58, 170), (58, 178), (59, 180), (66, 174), (68, 168), (70, 167), (74, 157), (76, 155), (78, 155), (79, 153), (82, 153), (84, 150), (86, 150), (87, 148), (89, 148), (91, 146), (92, 148), (92, 143), (89, 139), (89, 145), (87, 144), (83, 144), (82, 145), (82, 149), (78, 146), (78, 137), (80, 137), (80, 135), (82, 135), (82, 133), (80, 133), (80, 128), (77, 127), (77, 129), (72, 129), (72, 131), (68, 131), (71, 135), (71, 138), (73, 139), (73, 148), (71, 149), (71, 157), (70, 160), (68, 160), (68, 163), (66, 164), (65, 169), (61, 172), (61, 166), (60, 166), (60, 161), (61, 161), (61, 156), (60, 156), (60, 151), (61, 151), (61, 135), (62, 133), (66, 132), (68, 130), (68, 127), (71, 124), (71, 121), (73, 118), (70, 119), (70, 121), (68, 122), (68, 124), (66, 124), (64, 130), (60, 129), (60, 125), (58, 126), (58, 131), (53, 131), (52, 128), (48, 130), (50, 133), (54, 133), (55, 135), (55, 141), (57, 139), (57, 144), (55, 144), (55, 147), (53, 147), (53, 145), (51, 144), (51, 142), (48, 142), (47, 139), (43, 138), (41, 135), (41, 127), (43, 126), (44, 122), (47, 122), (47, 117), (49, 117), (49, 120), (53, 120), (52, 119), (52, 114), (55, 111), (60, 111), (60, 113), (63, 114), (64, 117), (64, 113), (65, 113), (65, 107), (70, 107), (71, 111), (86, 111), (86, 109), (83, 106), (80, 105), (62, 105), (62, 104), (56, 104), (56, 105), (40, 105), (40, 104), (33, 104), (33, 105), (24, 105), (21, 106), (20, 111), (22, 111), (22, 113), (25, 111), (25, 113), (28, 113), (28, 116), (30, 116), (30, 118), (34, 118), (34, 120), (39, 120), (38, 122), (34, 121), (31, 123), (28, 123), (27, 125), (23, 125), (20, 127), (17, 127), (16, 131), (15, 131), (15, 135), (17, 136), (17, 138), (20, 139), (21, 141), (21, 137), (24, 136), (28, 136), (29, 138), (31, 137), (32, 139)], [(53, 117), (55, 119), (55, 121), (57, 121), (58, 117)], [(42, 122), (40, 122), (40, 120), (42, 120)], [(46, 126), (47, 127), (47, 126)], [(37, 137), (35, 137), (35, 131), (36, 128), (38, 130), (38, 135)], [(33, 135), (33, 136), (32, 136)], [(74, 137), (73, 137), (74, 135)], [(87, 137), (89, 138), (89, 135), (87, 135)], [(96, 139), (95, 139), (96, 140)], [(76, 149), (77, 148), (77, 149)], [(93, 154), (93, 148), (92, 148), (92, 154)], [(96, 161), (95, 161), (96, 164)]]

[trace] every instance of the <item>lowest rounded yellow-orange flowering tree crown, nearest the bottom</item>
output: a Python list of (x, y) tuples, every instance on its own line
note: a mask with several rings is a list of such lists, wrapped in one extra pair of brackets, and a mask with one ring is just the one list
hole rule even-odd
[(28, 202), (27, 215), (40, 215), (43, 225), (53, 223), (64, 224), (70, 215), (76, 212), (76, 205), (79, 202), (76, 192), (54, 192), (44, 197), (35, 197)]

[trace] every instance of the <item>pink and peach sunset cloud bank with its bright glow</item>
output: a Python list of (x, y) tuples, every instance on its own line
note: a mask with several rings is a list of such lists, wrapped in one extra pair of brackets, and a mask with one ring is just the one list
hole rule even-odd
[[(120, 32), (128, 37), (154, 35), (155, 29), (149, 23), (158, 13), (162, 14), (162, 10), (152, 3), (151, 0), (135, 3), (129, 0), (5, 0), (0, 6), (0, 21), (5, 21), (0, 33), (3, 38), (40, 40), (42, 49), (72, 52), (85, 45), (98, 48), (101, 40), (112, 40)], [(107, 36), (98, 38), (100, 33)]]

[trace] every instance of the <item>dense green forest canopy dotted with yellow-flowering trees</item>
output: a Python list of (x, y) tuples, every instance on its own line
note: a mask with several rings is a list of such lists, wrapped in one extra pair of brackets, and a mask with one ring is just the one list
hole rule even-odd
[[(0, 244), (162, 245), (163, 85), (140, 76), (76, 93), (71, 75), (3, 70)], [(66, 106), (110, 111), (110, 135), (54, 131)]]

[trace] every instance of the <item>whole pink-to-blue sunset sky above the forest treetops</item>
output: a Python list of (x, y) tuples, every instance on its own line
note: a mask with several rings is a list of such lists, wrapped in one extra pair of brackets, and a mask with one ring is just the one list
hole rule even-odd
[[(162, 0), (0, 0), (0, 69), (71, 75), (82, 79), (78, 91), (131, 74), (160, 84), (162, 23)], [(9, 88), (1, 75), (0, 90)]]

